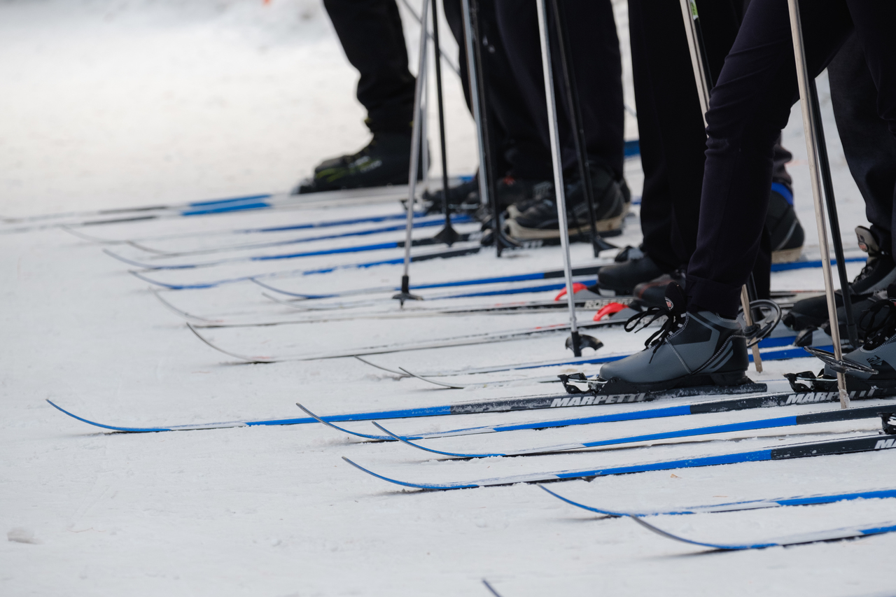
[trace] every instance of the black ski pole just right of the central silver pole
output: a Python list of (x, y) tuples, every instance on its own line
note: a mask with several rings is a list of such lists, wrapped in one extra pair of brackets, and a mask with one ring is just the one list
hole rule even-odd
[(551, 8), (554, 10), (554, 24), (557, 36), (557, 46), (560, 51), (560, 65), (563, 71), (564, 91), (566, 92), (567, 110), (569, 111), (570, 125), (573, 128), (573, 141), (575, 152), (579, 157), (579, 177), (582, 178), (582, 190), (585, 193), (585, 203), (588, 204), (588, 217), (591, 228), (591, 247), (594, 256), (600, 251), (613, 248), (609, 243), (600, 238), (598, 225), (595, 219), (594, 188), (591, 186), (591, 172), (588, 167), (588, 154), (585, 150), (585, 127), (582, 121), (582, 106), (579, 102), (579, 88), (576, 84), (575, 71), (570, 65), (573, 50), (570, 47), (569, 35), (566, 26), (566, 13), (563, 5), (557, 0), (551, 0)]

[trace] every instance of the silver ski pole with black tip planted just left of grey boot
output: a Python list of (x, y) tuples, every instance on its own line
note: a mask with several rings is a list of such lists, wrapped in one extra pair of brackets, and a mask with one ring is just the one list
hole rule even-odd
[(551, 141), (551, 160), (554, 165), (554, 186), (556, 188), (557, 223), (560, 232), (560, 245), (563, 252), (564, 274), (566, 278), (566, 302), (569, 305), (570, 337), (566, 343), (573, 349), (576, 357), (582, 356), (582, 348), (597, 348), (599, 342), (591, 336), (579, 334), (575, 318), (575, 299), (573, 299), (573, 268), (569, 255), (569, 229), (566, 223), (566, 196), (563, 184), (563, 160), (560, 156), (560, 137), (557, 134), (557, 107), (554, 96), (554, 73), (551, 70), (550, 41), (547, 39), (547, 11), (545, 0), (536, 0), (538, 10), (538, 32), (541, 42), (541, 70), (545, 77), (545, 99), (547, 100), (547, 131)]

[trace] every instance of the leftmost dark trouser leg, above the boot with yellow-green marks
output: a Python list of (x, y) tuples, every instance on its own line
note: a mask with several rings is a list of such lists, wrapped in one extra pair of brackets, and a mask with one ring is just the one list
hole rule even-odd
[(415, 79), (395, 0), (323, 0), (342, 49), (358, 69), (358, 101), (372, 133), (410, 133)]

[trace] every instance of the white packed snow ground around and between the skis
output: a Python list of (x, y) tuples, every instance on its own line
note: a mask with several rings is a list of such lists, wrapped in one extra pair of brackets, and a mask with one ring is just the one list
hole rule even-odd
[[(621, 27), (625, 3), (616, 2)], [(411, 42), (418, 28), (407, 27)], [(621, 39), (627, 39), (625, 29)], [(448, 38), (449, 36), (444, 36)], [(414, 47), (415, 43), (409, 43)], [(411, 53), (413, 55), (413, 52)], [(0, 2), (0, 215), (26, 216), (288, 189), (322, 157), (366, 143), (355, 74), (323, 7), (314, 0), (43, 0)], [(446, 79), (453, 173), (476, 154), (460, 88)], [(824, 78), (820, 87), (826, 89)], [(629, 94), (630, 96), (630, 94)], [(630, 103), (633, 103), (629, 100)], [(863, 223), (830, 101), (823, 93), (840, 221), (848, 247)], [(636, 136), (633, 122), (630, 137)], [(798, 107), (785, 131), (795, 154), (797, 210), (806, 257), (817, 236)], [(637, 160), (627, 165), (637, 195)], [(104, 238), (254, 228), (397, 214), (394, 202), (247, 212), (85, 229)], [(332, 231), (345, 228), (329, 229)], [(426, 229), (418, 233), (426, 236)], [(255, 235), (257, 236), (257, 235)], [(311, 236), (307, 232), (266, 237)], [(397, 240), (400, 234), (330, 240), (324, 249)], [(636, 217), (620, 244), (638, 241)], [(227, 237), (149, 239), (164, 250), (223, 244)], [(239, 238), (245, 242), (245, 238)], [(254, 238), (252, 238), (254, 240)], [(217, 256), (268, 255), (287, 248)], [(134, 247), (110, 247), (151, 259)], [(163, 281), (210, 281), (388, 259), (395, 250), (252, 262), (150, 273)], [(574, 262), (590, 247), (573, 247)], [(186, 258), (178, 258), (187, 260)], [(190, 259), (194, 259), (191, 257)], [(415, 264), (412, 279), (438, 281), (561, 266), (545, 248), (495, 260), (481, 255)], [(855, 274), (860, 264), (851, 264)], [(367, 477), (352, 460), (407, 480), (472, 480), (522, 472), (722, 454), (791, 441), (849, 436), (874, 422), (740, 433), (666, 446), (442, 462), (407, 446), (361, 443), (319, 425), (112, 434), (65, 417), (51, 399), (91, 420), (159, 426), (430, 406), (555, 391), (525, 376), (461, 376), (516, 385), (438, 389), (354, 359), (246, 364), (199, 342), (182, 319), (96, 244), (59, 229), (0, 235), (0, 593), (4, 595), (486, 595), (487, 578), (511, 597), (607, 595), (892, 595), (888, 566), (896, 536), (789, 549), (699, 555), (628, 520), (598, 520), (518, 485), (444, 493), (401, 490)], [(286, 290), (320, 292), (394, 284), (396, 266), (271, 279)], [(773, 288), (821, 288), (820, 270), (774, 274)], [(163, 297), (196, 316), (286, 321), (297, 311), (264, 299), (251, 282)], [(522, 295), (550, 298), (554, 292)], [(501, 298), (495, 299), (504, 300)], [(501, 331), (564, 322), (564, 314), (452, 316), (202, 330), (237, 352), (297, 354), (398, 339)], [(595, 333), (601, 352), (637, 350), (642, 338)], [(386, 367), (464, 368), (562, 359), (562, 335), (371, 357)], [(757, 380), (818, 368), (814, 359), (769, 361)], [(596, 372), (597, 368), (586, 368)], [(583, 407), (576, 413), (632, 406)], [(824, 407), (791, 407), (788, 412)], [(397, 432), (552, 419), (544, 411), (395, 420)], [(783, 414), (775, 411), (774, 416)], [(699, 415), (688, 426), (754, 420), (769, 413)], [(693, 424), (693, 425), (692, 425)], [(680, 420), (625, 422), (434, 440), (445, 450), (522, 448), (682, 427)], [(369, 422), (347, 427), (375, 432)], [(435, 442), (438, 442), (436, 445)], [(893, 486), (896, 454), (854, 454), (649, 472), (552, 489), (595, 506), (652, 509), (762, 497)], [(888, 472), (889, 471), (889, 472)], [(670, 531), (705, 541), (752, 541), (896, 519), (893, 500), (663, 517)]]

